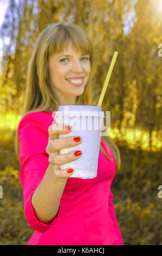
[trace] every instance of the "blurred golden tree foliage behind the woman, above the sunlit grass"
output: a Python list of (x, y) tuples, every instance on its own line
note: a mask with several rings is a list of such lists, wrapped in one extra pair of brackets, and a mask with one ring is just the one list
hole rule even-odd
[(111, 111), (121, 135), (126, 127), (149, 130), (151, 145), (154, 132), (161, 132), (160, 14), (153, 0), (9, 0), (1, 27), (1, 106), (21, 112), (36, 37), (53, 22), (71, 21), (85, 29), (95, 49), (94, 105), (118, 51), (103, 110)]

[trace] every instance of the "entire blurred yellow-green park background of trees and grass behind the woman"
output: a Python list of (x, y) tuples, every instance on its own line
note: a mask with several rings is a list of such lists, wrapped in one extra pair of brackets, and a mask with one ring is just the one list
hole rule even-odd
[(24, 217), (15, 131), (35, 40), (58, 21), (77, 23), (92, 41), (94, 105), (119, 52), (102, 103), (122, 161), (111, 185), (116, 217), (125, 245), (162, 245), (161, 17), (162, 0), (0, 0), (0, 245), (26, 245), (34, 231)]

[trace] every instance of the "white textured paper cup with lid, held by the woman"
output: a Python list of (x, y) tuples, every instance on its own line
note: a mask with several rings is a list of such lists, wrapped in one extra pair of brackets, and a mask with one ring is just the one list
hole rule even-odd
[(69, 178), (92, 179), (97, 176), (98, 156), (105, 117), (102, 107), (90, 105), (59, 106), (55, 112), (56, 124), (67, 124), (72, 127), (70, 133), (59, 135), (59, 138), (79, 136), (82, 142), (71, 148), (61, 149), (59, 154), (66, 154), (73, 150), (82, 151), (79, 159), (63, 164), (61, 170), (72, 168), (73, 174)]

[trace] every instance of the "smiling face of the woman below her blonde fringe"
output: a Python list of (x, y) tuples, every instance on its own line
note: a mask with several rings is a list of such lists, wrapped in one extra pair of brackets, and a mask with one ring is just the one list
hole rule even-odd
[(75, 105), (76, 97), (84, 93), (91, 72), (89, 57), (77, 52), (72, 42), (62, 53), (49, 56), (49, 78), (60, 105)]

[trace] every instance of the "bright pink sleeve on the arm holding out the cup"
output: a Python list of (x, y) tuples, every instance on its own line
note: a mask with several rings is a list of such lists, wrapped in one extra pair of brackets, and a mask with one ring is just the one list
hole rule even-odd
[(46, 147), (48, 133), (43, 129), (43, 124), (34, 118), (34, 114), (25, 116), (18, 125), (20, 142), (20, 180), (23, 187), (24, 214), (30, 226), (38, 232), (48, 230), (56, 221), (59, 214), (51, 223), (46, 224), (38, 220), (33, 205), (32, 196), (39, 186), (48, 167), (48, 154)]

